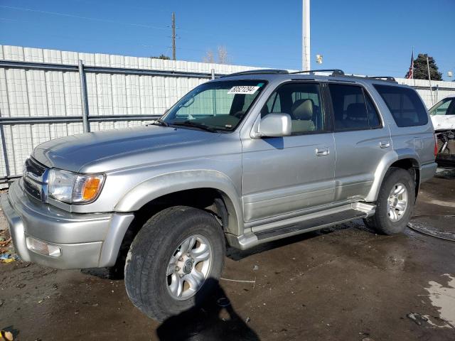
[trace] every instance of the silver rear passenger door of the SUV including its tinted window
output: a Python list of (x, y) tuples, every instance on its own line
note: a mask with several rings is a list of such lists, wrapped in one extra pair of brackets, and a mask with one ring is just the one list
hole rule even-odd
[(361, 85), (330, 82), (335, 129), (335, 201), (364, 200), (385, 153), (392, 150), (390, 130)]

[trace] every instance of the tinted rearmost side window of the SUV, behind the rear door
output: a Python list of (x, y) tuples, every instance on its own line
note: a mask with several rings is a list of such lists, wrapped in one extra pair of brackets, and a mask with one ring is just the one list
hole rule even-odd
[(428, 123), (427, 109), (414, 90), (407, 87), (374, 85), (390, 110), (397, 126), (424, 126)]

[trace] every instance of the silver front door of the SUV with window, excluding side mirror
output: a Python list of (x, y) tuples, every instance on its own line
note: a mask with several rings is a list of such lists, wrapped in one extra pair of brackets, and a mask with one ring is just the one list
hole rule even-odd
[(261, 116), (291, 116), (292, 134), (242, 140), (245, 222), (333, 202), (335, 148), (318, 82), (277, 87)]

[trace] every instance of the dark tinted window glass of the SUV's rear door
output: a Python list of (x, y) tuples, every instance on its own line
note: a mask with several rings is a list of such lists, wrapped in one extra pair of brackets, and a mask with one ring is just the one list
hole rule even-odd
[(370, 96), (358, 85), (329, 84), (337, 131), (380, 127), (378, 112)]

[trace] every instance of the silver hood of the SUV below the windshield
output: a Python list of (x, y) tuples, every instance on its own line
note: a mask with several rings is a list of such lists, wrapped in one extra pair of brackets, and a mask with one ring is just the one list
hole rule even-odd
[[(49, 168), (55, 167), (73, 172), (81, 171), (84, 166), (96, 163), (109, 164), (110, 168), (113, 166), (122, 168), (129, 165), (112, 161), (119, 158), (127, 160), (133, 158), (137, 164), (146, 163), (144, 158), (151, 152), (205, 144), (216, 136), (219, 134), (196, 129), (139, 126), (51, 140), (37, 146), (32, 156)], [(110, 170), (102, 169), (102, 171)]]

